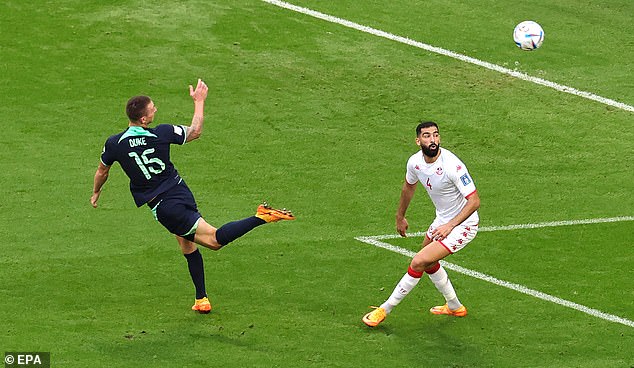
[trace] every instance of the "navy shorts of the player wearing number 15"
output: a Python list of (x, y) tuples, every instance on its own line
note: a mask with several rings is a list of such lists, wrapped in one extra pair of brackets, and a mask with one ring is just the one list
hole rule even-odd
[(184, 181), (161, 193), (149, 201), (154, 217), (170, 233), (193, 241), (198, 220), (202, 217), (198, 212), (192, 191)]

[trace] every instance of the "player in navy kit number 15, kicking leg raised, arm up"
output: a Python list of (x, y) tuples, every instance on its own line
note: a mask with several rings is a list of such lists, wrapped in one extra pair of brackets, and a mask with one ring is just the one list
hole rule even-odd
[(202, 218), (192, 192), (170, 160), (170, 145), (182, 145), (200, 137), (207, 91), (207, 85), (200, 79), (195, 89), (189, 86), (189, 95), (194, 100), (194, 117), (189, 126), (160, 124), (150, 128), (156, 113), (154, 102), (147, 96), (132, 97), (126, 105), (128, 128), (106, 140), (90, 198), (96, 208), (110, 167), (119, 162), (130, 178), (130, 192), (137, 207), (147, 204), (155, 218), (176, 235), (196, 288), (192, 310), (200, 313), (209, 313), (211, 303), (205, 288), (202, 255), (196, 244), (218, 250), (257, 226), (295, 219), (290, 211), (277, 210), (266, 203), (257, 208), (255, 216), (218, 229)]

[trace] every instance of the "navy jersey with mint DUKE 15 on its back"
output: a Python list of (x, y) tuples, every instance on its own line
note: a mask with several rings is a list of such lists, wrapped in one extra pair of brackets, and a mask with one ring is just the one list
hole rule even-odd
[(170, 161), (170, 144), (184, 144), (187, 128), (161, 124), (156, 128), (128, 127), (106, 140), (101, 162), (119, 162), (130, 178), (130, 192), (137, 207), (181, 181)]

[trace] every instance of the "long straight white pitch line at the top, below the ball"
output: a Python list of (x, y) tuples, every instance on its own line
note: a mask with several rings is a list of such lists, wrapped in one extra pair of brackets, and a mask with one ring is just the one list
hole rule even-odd
[(555, 82), (547, 81), (547, 80), (542, 79), (542, 78), (532, 77), (532, 76), (530, 76), (528, 74), (525, 74), (525, 73), (522, 73), (522, 72), (518, 72), (517, 70), (511, 70), (511, 69), (508, 69), (508, 68), (505, 68), (505, 67), (502, 67), (502, 66), (499, 66), (499, 65), (496, 65), (496, 64), (492, 64), (492, 63), (489, 63), (489, 62), (486, 62), (486, 61), (482, 61), (482, 60), (479, 60), (479, 59), (476, 59), (476, 58), (472, 58), (470, 56), (462, 55), (462, 54), (459, 54), (457, 52), (453, 52), (453, 51), (450, 51), (450, 50), (445, 50), (445, 49), (440, 48), (440, 47), (436, 47), (436, 46), (428, 45), (426, 43), (414, 41), (414, 40), (406, 38), (406, 37), (397, 36), (397, 35), (394, 35), (394, 34), (391, 34), (391, 33), (385, 32), (385, 31), (381, 31), (381, 30), (378, 30), (378, 29), (375, 29), (375, 28), (371, 28), (371, 27), (364, 26), (364, 25), (361, 25), (361, 24), (358, 24), (358, 23), (354, 23), (354, 22), (351, 22), (349, 20), (345, 20), (345, 19), (342, 19), (342, 18), (337, 18), (337, 17), (334, 17), (332, 15), (320, 13), (320, 12), (315, 11), (315, 10), (311, 10), (311, 9), (308, 9), (308, 8), (303, 8), (301, 6), (293, 5), (293, 4), (287, 3), (285, 1), (279, 1), (279, 0), (262, 0), (262, 1), (264, 1), (266, 3), (269, 3), (271, 5), (278, 6), (280, 8), (285, 8), (285, 9), (292, 10), (292, 11), (295, 11), (295, 12), (298, 12), (298, 13), (302, 13), (302, 14), (305, 14), (305, 15), (308, 15), (308, 16), (311, 16), (311, 17), (314, 17), (314, 18), (322, 19), (322, 20), (325, 20), (327, 22), (336, 23), (336, 24), (342, 25), (344, 27), (356, 29), (358, 31), (369, 33), (369, 34), (372, 34), (372, 35), (375, 35), (375, 36), (378, 36), (378, 37), (383, 37), (383, 38), (386, 38), (388, 40), (400, 42), (400, 43), (403, 43), (403, 44), (406, 44), (406, 45), (417, 47), (419, 49), (423, 49), (423, 50), (426, 50), (426, 51), (434, 52), (436, 54), (448, 56), (448, 57), (451, 57), (451, 58), (454, 58), (454, 59), (458, 59), (460, 61), (464, 61), (464, 62), (467, 62), (467, 63), (475, 64), (475, 65), (481, 66), (483, 68), (487, 68), (487, 69), (494, 70), (494, 71), (502, 73), (502, 74), (509, 75), (511, 77), (514, 77), (514, 78), (519, 78), (519, 79), (522, 79), (522, 80), (525, 80), (525, 81), (528, 81), (528, 82), (532, 82), (532, 83), (535, 83), (535, 84), (540, 84), (542, 86), (553, 88), (553, 89), (555, 89), (555, 90), (557, 90), (559, 92), (569, 93), (569, 94), (572, 94), (572, 95), (575, 95), (575, 96), (579, 96), (579, 97), (587, 98), (589, 100), (600, 102), (600, 103), (605, 104), (605, 105), (613, 106), (613, 107), (616, 107), (616, 108), (619, 108), (619, 109), (622, 109), (622, 110), (634, 112), (634, 106), (627, 105), (625, 103), (618, 102), (618, 101), (615, 101), (615, 100), (612, 100), (612, 99), (609, 99), (609, 98), (601, 97), (601, 96), (595, 95), (595, 94), (590, 93), (590, 92), (580, 91), (580, 90), (578, 90), (576, 88), (573, 88), (573, 87), (568, 87), (568, 86), (564, 86), (564, 85), (561, 85), (561, 84), (558, 84), (558, 83), (555, 83)]

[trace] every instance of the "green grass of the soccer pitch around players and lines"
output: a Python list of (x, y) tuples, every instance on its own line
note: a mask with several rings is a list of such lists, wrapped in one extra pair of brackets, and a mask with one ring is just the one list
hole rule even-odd
[[(293, 3), (634, 104), (631, 1)], [(546, 32), (534, 52), (512, 41), (525, 19)], [(466, 318), (430, 315), (442, 296), (423, 280), (369, 329), (409, 260), (355, 240), (394, 232), (420, 119), (469, 167), (482, 226), (632, 216), (632, 112), (257, 0), (10, 0), (0, 24), (2, 351), (53, 367), (634, 365), (632, 327), (451, 271)], [(172, 159), (202, 214), (219, 226), (267, 199), (298, 218), (202, 250), (209, 315), (189, 310), (185, 259), (118, 166), (88, 202), (127, 99), (189, 123), (198, 77), (205, 132)], [(419, 188), (412, 231), (432, 219)], [(631, 321), (633, 233), (482, 232), (447, 260)]]

